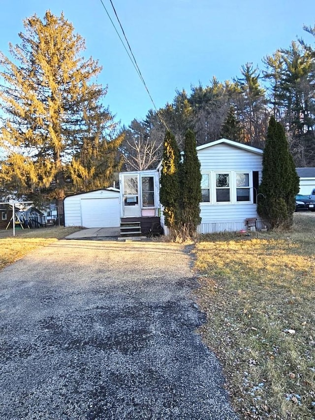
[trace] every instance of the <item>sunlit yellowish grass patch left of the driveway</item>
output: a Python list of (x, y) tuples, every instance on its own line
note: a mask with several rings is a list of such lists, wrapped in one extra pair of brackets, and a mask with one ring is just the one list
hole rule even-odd
[(29, 254), (34, 249), (46, 246), (64, 238), (77, 227), (49, 227), (42, 229), (16, 229), (16, 236), (11, 230), (0, 230), (0, 269)]

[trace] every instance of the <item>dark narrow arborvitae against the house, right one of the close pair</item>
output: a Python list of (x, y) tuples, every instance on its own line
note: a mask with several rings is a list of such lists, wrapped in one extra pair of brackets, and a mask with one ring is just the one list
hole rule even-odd
[(185, 134), (184, 157), (181, 164), (181, 225), (185, 226), (187, 235), (193, 237), (201, 222), (201, 172), (196, 150), (196, 137), (192, 130)]

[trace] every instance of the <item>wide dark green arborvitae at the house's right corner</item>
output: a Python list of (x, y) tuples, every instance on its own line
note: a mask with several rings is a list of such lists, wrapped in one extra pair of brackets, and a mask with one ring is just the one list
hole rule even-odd
[(299, 192), (299, 177), (289, 152), (285, 131), (271, 117), (263, 153), (262, 181), (258, 195), (258, 214), (274, 228), (292, 226), (295, 195)]

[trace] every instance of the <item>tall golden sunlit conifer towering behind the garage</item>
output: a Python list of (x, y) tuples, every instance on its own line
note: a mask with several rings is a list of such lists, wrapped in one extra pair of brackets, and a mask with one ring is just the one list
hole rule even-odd
[(0, 180), (13, 192), (61, 201), (68, 191), (106, 187), (119, 169), (113, 117), (95, 83), (97, 61), (85, 60), (82, 37), (61, 14), (25, 19), (13, 60), (0, 53)]

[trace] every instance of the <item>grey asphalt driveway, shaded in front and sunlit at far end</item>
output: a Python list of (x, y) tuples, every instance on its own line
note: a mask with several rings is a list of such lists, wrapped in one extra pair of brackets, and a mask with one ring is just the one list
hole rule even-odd
[(237, 419), (186, 251), (63, 240), (0, 271), (0, 419)]

